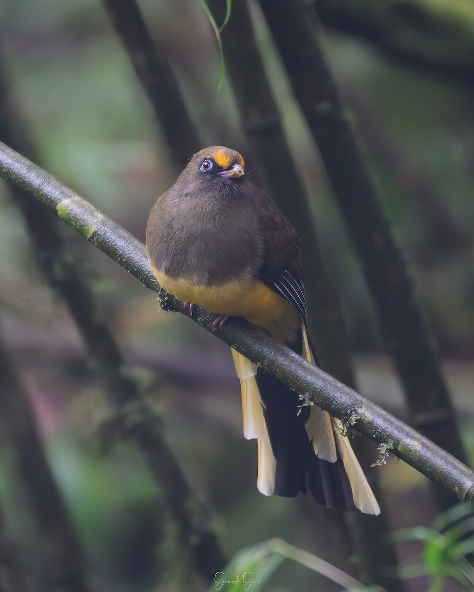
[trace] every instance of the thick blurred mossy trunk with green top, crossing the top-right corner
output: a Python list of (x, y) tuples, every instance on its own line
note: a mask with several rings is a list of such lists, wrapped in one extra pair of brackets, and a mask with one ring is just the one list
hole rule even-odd
[(469, 3), (433, 2), (433, 8), (424, 0), (317, 0), (313, 4), (324, 25), (368, 40), (409, 66), (472, 89), (474, 27), (472, 9), (467, 12)]

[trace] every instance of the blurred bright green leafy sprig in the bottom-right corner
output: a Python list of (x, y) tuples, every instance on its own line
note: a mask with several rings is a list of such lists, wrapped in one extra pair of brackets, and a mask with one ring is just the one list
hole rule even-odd
[(440, 514), (431, 527), (417, 526), (393, 533), (393, 542), (423, 543), (422, 561), (404, 568), (404, 578), (430, 575), (429, 592), (443, 590), (446, 578), (454, 578), (466, 590), (474, 588), (474, 514), (469, 504), (459, 504)]

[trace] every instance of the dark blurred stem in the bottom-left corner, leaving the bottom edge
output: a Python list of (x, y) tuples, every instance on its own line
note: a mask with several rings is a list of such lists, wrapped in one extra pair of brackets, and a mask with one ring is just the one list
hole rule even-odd
[(0, 422), (37, 520), (48, 590), (90, 592), (81, 543), (43, 451), (30, 401), (1, 343)]

